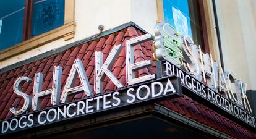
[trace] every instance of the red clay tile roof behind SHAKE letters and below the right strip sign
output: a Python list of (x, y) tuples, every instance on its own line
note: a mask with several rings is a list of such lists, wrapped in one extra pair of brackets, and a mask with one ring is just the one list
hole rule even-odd
[[(125, 47), (125, 41), (130, 38), (135, 38), (142, 35), (143, 32), (135, 27), (127, 27), (118, 32), (110, 35), (103, 36), (99, 39), (80, 44), (73, 48), (67, 49), (61, 53), (54, 54), (53, 56), (45, 57), (38, 61), (32, 62), (27, 65), (22, 65), (17, 69), (13, 69), (9, 72), (5, 72), (0, 75), (0, 119), (9, 119), (14, 115), (9, 111), (11, 106), (20, 109), (23, 104), (23, 99), (15, 95), (12, 87), (15, 80), (20, 76), (28, 76), (33, 79), (36, 72), (42, 72), (44, 74), (43, 78), (43, 90), (51, 88), (53, 80), (53, 67), (59, 65), (63, 67), (62, 72), (62, 89), (66, 83), (67, 76), (69, 75), (70, 68), (76, 58), (79, 58), (83, 62), (85, 67), (88, 80), (91, 87), (93, 88), (93, 75), (94, 75), (94, 53), (95, 51), (102, 51), (104, 60), (109, 54), (109, 51), (114, 45), (122, 44)], [(143, 61), (145, 59), (153, 59), (152, 57), (152, 44), (153, 41), (147, 41), (145, 43), (139, 44), (134, 47), (134, 57), (135, 62)], [(136, 72), (137, 77), (141, 77), (147, 74), (156, 74), (156, 66), (148, 67), (147, 69), (140, 69)], [(122, 49), (121, 54), (116, 59), (114, 66), (112, 67), (113, 74), (118, 78), (118, 80), (127, 86), (126, 83), (126, 64), (125, 64), (125, 51)], [(103, 80), (104, 92), (109, 92), (116, 90), (117, 87), (113, 82), (109, 82), (109, 78)], [(77, 80), (75, 85), (79, 85), (80, 81)], [(24, 83), (22, 86), (22, 91), (32, 96), (33, 83)], [(70, 96), (69, 101), (76, 101), (85, 98), (84, 93), (78, 93)], [(237, 124), (236, 122), (229, 120), (227, 117), (221, 116), (217, 112), (209, 109), (203, 104), (197, 103), (197, 101), (192, 100), (186, 95), (182, 95), (181, 98), (175, 98), (168, 101), (161, 101), (161, 104), (168, 109), (171, 109), (183, 116), (190, 119), (196, 120), (202, 124), (208, 125), (208, 127), (215, 128), (220, 132), (226, 133), (231, 137), (235, 138), (256, 138), (255, 133), (248, 130), (245, 127)], [(49, 97), (45, 97), (41, 101), (41, 109), (51, 107)]]

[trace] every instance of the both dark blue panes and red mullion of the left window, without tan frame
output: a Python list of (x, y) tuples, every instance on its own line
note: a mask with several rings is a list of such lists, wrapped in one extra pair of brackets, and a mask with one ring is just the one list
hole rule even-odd
[(0, 5), (0, 50), (64, 25), (65, 0), (12, 0)]

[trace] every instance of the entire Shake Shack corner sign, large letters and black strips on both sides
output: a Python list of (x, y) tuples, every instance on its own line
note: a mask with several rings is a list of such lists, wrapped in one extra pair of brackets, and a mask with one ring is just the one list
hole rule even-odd
[[(198, 97), (204, 98), (225, 112), (229, 112), (231, 116), (242, 120), (251, 127), (256, 127), (255, 117), (249, 113), (252, 110), (246, 96), (246, 84), (238, 80), (233, 72), (223, 72), (220, 64), (213, 61), (211, 54), (203, 54), (200, 46), (196, 46), (190, 36), (181, 37), (171, 25), (158, 23), (155, 27), (155, 36), (146, 34), (126, 41), (127, 88), (124, 88), (124, 85), (117, 80), (110, 70), (123, 49), (122, 45), (114, 46), (106, 61), (103, 61), (103, 53), (95, 52), (93, 88), (95, 94), (93, 94), (80, 59), (75, 59), (62, 93), (62, 67), (54, 67), (53, 85), (48, 90), (42, 90), (43, 74), (41, 73), (36, 73), (33, 80), (29, 77), (17, 78), (14, 83), (14, 93), (21, 96), (25, 101), (21, 109), (10, 108), (16, 117), (0, 122), (1, 133), (11, 133), (24, 128), (111, 109), (111, 107), (126, 106), (169, 95), (181, 95), (181, 92), (177, 91), (181, 87), (177, 81), (173, 83), (169, 78), (156, 80), (155, 74), (135, 77), (136, 70), (153, 65), (153, 61), (150, 60), (134, 61), (134, 46), (149, 40), (154, 40), (153, 47), (156, 50), (153, 57), (157, 61), (168, 61), (165, 63), (165, 74), (179, 77), (182, 87), (189, 90), (186, 93), (192, 91)], [(77, 77), (81, 83), (79, 86), (74, 86)], [(105, 77), (108, 77), (121, 90), (105, 94), (103, 92), (103, 79)], [(32, 97), (22, 92), (21, 87), (25, 82), (34, 83)], [(138, 86), (142, 83), (143, 85)], [(87, 98), (69, 103), (69, 96), (75, 93), (85, 93)], [(41, 99), (49, 95), (54, 107), (41, 111)], [(35, 112), (17, 116), (30, 111), (30, 109)]]

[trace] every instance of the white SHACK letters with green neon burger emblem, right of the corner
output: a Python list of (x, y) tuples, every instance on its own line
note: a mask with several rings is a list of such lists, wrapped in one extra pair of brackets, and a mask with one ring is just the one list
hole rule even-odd
[(207, 83), (212, 90), (252, 113), (246, 96), (247, 84), (242, 83), (232, 71), (223, 72), (211, 54), (203, 54), (200, 46), (195, 45), (190, 36), (181, 38), (175, 28), (166, 23), (155, 26), (155, 35), (156, 60), (166, 60), (184, 69), (200, 82)]

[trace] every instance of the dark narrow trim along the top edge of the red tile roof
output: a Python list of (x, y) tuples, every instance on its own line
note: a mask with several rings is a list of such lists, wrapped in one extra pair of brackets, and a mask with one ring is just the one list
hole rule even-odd
[(119, 32), (120, 30), (123, 30), (124, 28), (127, 28), (127, 27), (135, 27), (135, 28), (139, 29), (140, 31), (142, 31), (143, 33), (148, 33), (147, 31), (143, 30), (143, 28), (139, 27), (139, 25), (130, 21), (128, 23), (124, 23), (124, 24), (119, 25), (117, 27), (106, 30), (102, 33), (89, 36), (89, 37), (84, 38), (82, 40), (75, 41), (74, 43), (66, 44), (64, 46), (61, 46), (60, 48), (53, 49), (53, 50), (47, 51), (45, 53), (39, 54), (38, 56), (34, 56), (34, 57), (29, 58), (29, 59), (25, 59), (23, 61), (17, 62), (17, 63), (12, 64), (12, 65), (8, 65), (7, 67), (4, 67), (4, 68), (0, 69), (0, 75), (3, 74), (4, 72), (8, 72), (9, 70), (16, 69), (17, 67), (20, 67), (22, 65), (29, 64), (30, 62), (34, 62), (34, 61), (43, 59), (43, 58), (51, 56), (51, 55), (61, 53), (62, 51), (66, 51), (67, 49), (72, 48), (74, 46), (78, 46), (80, 44), (96, 40), (96, 39), (101, 38), (103, 36), (110, 35), (110, 34), (115, 33), (115, 32)]

